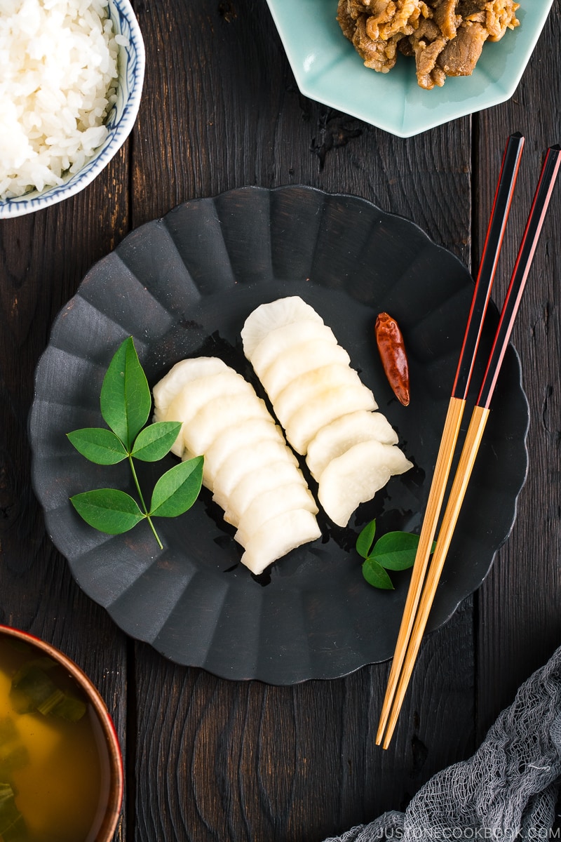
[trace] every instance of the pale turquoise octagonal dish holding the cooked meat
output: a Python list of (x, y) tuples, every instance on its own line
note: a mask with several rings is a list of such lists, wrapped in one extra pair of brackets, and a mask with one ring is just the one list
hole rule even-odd
[(411, 137), (511, 99), (541, 35), (553, 0), (521, 0), (521, 25), (484, 45), (470, 77), (442, 88), (417, 85), (415, 62), (398, 56), (389, 73), (363, 66), (336, 21), (336, 0), (267, 0), (304, 96), (398, 137)]

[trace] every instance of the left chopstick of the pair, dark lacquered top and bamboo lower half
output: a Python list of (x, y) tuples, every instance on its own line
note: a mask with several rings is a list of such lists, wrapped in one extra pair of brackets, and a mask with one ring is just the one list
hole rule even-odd
[(431, 555), (432, 541), (437, 530), (444, 491), (452, 466), (460, 424), (462, 423), (469, 381), (474, 368), (475, 351), (479, 344), (484, 315), (490, 299), (491, 285), (493, 284), (499, 259), (500, 247), (505, 235), (506, 221), (511, 210), (512, 194), (520, 167), (523, 146), (524, 138), (520, 133), (511, 135), (506, 142), (505, 152), (500, 166), (495, 199), (491, 209), (489, 226), (479, 264), (479, 273), (475, 282), (474, 296), (472, 298), (468, 323), (458, 360), (458, 370), (454, 379), (452, 397), (447, 408), (442, 439), (438, 448), (437, 462), (426, 504), (425, 517), (421, 526), (419, 546), (415, 554), (415, 564), (411, 573), (404, 614), (389, 672), (388, 686), (378, 724), (378, 733), (376, 734), (377, 745), (382, 742), (384, 728), (388, 722), (391, 703), (415, 620), (415, 611), (417, 610), (417, 605), (421, 597), (421, 589), (426, 576), (428, 560)]

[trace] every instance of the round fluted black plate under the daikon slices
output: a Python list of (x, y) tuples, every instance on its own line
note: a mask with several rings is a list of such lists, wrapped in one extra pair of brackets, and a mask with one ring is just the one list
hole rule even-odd
[[(410, 221), (305, 187), (193, 200), (130, 233), (56, 318), (36, 372), (34, 488), (78, 584), (124, 632), (172, 661), (229, 679), (288, 685), (389, 658), (410, 573), (392, 574), (394, 591), (371, 588), (354, 543), (373, 516), (378, 534), (420, 528), (472, 291), (463, 264)], [(186, 514), (157, 521), (161, 552), (144, 523), (114, 537), (87, 526), (68, 498), (129, 488), (128, 468), (87, 462), (66, 432), (103, 424), (103, 375), (124, 338), (135, 338), (151, 384), (195, 354), (217, 354), (254, 380), (241, 352), (243, 322), (263, 301), (289, 295), (302, 296), (331, 325), (415, 467), (361, 506), (349, 528), (321, 520), (321, 539), (260, 578), (240, 564), (233, 530), (205, 490)], [(406, 338), (408, 408), (392, 396), (373, 340), (384, 310)], [(483, 350), (496, 322), (494, 310)], [(509, 349), (431, 628), (478, 588), (511, 530), (527, 472), (527, 423), (520, 365)], [(173, 462), (167, 457), (166, 466)], [(146, 488), (156, 470), (162, 466), (145, 467)]]

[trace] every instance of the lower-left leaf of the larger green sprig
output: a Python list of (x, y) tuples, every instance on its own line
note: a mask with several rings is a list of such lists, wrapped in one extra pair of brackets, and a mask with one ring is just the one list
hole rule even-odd
[(87, 524), (108, 535), (128, 532), (146, 517), (130, 494), (117, 488), (85, 491), (75, 494), (70, 502)]

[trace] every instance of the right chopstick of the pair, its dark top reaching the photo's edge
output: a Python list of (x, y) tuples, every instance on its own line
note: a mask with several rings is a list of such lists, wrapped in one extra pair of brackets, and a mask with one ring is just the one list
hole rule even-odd
[(453, 530), (463, 504), (463, 498), (468, 488), (468, 482), (474, 467), (479, 445), (483, 437), (485, 424), (490, 413), (490, 401), (495, 391), (497, 376), (505, 356), (505, 350), (511, 338), (512, 327), (521, 302), (521, 296), (526, 286), (527, 277), (537, 247), (537, 241), (542, 231), (543, 221), (548, 210), (553, 185), (558, 176), (561, 165), (561, 148), (549, 147), (537, 183), (536, 193), (532, 201), (532, 208), (528, 216), (527, 225), (522, 237), (521, 247), (516, 257), (511, 282), (506, 292), (505, 302), (500, 313), (499, 325), (495, 334), (495, 341), (490, 352), (489, 362), (484, 373), (483, 383), (479, 390), (479, 397), (469, 423), (468, 433), (463, 444), (458, 462), (458, 469), (454, 477), (453, 486), (448, 498), (442, 526), (438, 535), (437, 546), (432, 557), (431, 565), (426, 576), (426, 583), (422, 590), (421, 600), (415, 616), (409, 645), (405, 653), (403, 669), (394, 695), (393, 704), (384, 736), (384, 749), (394, 733), (394, 727), (400, 714), (405, 697), (405, 691), (415, 659), (421, 646), (421, 639), (425, 632), (426, 622), (431, 610), (432, 602), (437, 591), (442, 568), (447, 557), (448, 548), (453, 537)]

